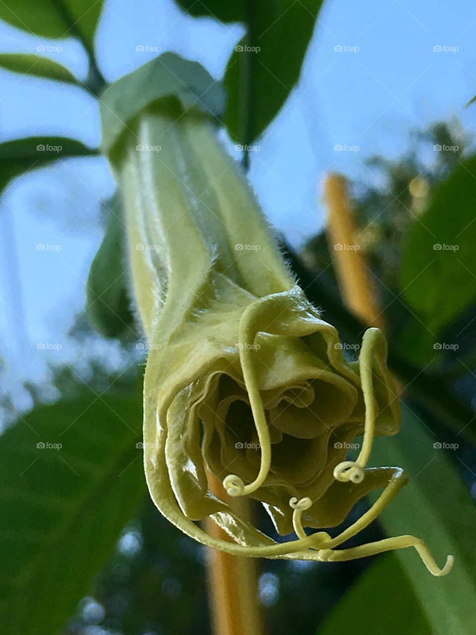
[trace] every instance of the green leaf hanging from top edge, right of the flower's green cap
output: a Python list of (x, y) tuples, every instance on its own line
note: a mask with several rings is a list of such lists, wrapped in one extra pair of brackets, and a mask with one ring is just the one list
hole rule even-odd
[[(236, 47), (224, 79), (228, 91), (225, 124), (241, 144), (260, 137), (298, 82), (321, 6), (322, 0), (253, 4), (246, 20), (248, 36)], [(245, 46), (259, 50), (247, 53)], [(247, 93), (249, 112), (245, 112)]]

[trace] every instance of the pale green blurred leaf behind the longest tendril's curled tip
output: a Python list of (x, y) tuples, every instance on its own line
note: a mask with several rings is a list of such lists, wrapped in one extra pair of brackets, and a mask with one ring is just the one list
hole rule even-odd
[(453, 460), (445, 450), (433, 447), (448, 441), (428, 431), (405, 408), (402, 431), (395, 437), (376, 439), (371, 463), (400, 465), (410, 477), (380, 516), (388, 535), (422, 538), (439, 566), (444, 565), (447, 554), (454, 556), (451, 573), (433, 578), (415, 549), (395, 551), (433, 632), (472, 635), (476, 624), (476, 552), (472, 542), (476, 509)]

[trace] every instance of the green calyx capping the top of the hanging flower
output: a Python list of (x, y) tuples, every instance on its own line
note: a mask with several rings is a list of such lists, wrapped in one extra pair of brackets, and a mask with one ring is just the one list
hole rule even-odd
[[(212, 117), (220, 116), (225, 106), (221, 84), (198, 62), (164, 53), (121, 77), (100, 99), (104, 152), (110, 153), (133, 117), (166, 97), (175, 98), (185, 110), (193, 107)], [(159, 146), (160, 140), (156, 141)]]

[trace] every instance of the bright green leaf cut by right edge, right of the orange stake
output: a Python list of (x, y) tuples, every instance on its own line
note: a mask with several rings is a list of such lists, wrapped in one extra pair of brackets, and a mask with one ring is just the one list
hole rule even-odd
[(432, 331), (476, 298), (476, 157), (437, 186), (409, 233), (400, 287)]

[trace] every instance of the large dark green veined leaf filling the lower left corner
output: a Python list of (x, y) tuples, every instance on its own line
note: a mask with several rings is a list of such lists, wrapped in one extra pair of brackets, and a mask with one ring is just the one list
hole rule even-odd
[(55, 633), (76, 612), (145, 495), (141, 422), (138, 391), (119, 398), (79, 389), (74, 401), (39, 406), (0, 437), (5, 633)]

